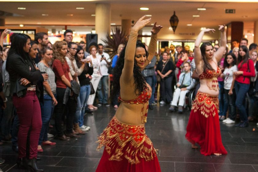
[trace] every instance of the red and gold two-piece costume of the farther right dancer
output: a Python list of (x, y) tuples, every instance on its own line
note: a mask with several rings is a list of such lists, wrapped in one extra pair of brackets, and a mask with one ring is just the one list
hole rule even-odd
[[(207, 80), (210, 90), (217, 91), (219, 89), (217, 77), (220, 74), (221, 70), (217, 67), (217, 72), (207, 69), (199, 77), (200, 80)], [(210, 80), (212, 80), (212, 85), (209, 84)], [(218, 109), (218, 96), (197, 92), (186, 127), (186, 139), (192, 144), (198, 143), (201, 147), (201, 154), (206, 156), (214, 153), (228, 153), (221, 140)]]

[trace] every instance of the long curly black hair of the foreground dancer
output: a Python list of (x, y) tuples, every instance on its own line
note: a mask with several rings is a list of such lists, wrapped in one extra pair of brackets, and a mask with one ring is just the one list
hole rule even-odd
[[(124, 67), (124, 56), (125, 56), (125, 49), (126, 46), (123, 48), (122, 52), (119, 54), (119, 57), (117, 59), (115, 68), (113, 69), (113, 84), (112, 84), (112, 90), (111, 90), (111, 100), (117, 99), (117, 95), (120, 92), (120, 76), (122, 74), (122, 70)], [(147, 52), (145, 45), (143, 45), (142, 42), (137, 41), (136, 42), (136, 48), (137, 47), (142, 47), (144, 48), (145, 52), (146, 52), (146, 57), (148, 60), (148, 56), (149, 53)], [(135, 52), (132, 52), (135, 53)], [(135, 84), (135, 94), (137, 94), (138, 92), (142, 92), (144, 87), (147, 87), (146, 85), (146, 81), (144, 79), (144, 75), (141, 72), (141, 69), (139, 68), (139, 66), (137, 65), (136, 60), (134, 60), (134, 69), (133, 69), (133, 77), (134, 77), (134, 84)]]

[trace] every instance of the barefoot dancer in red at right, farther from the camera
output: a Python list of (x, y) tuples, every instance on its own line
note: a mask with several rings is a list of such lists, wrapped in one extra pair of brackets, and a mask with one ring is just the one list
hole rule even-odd
[(223, 25), (220, 25), (219, 30), (221, 31), (221, 46), (215, 53), (210, 42), (205, 42), (200, 47), (204, 33), (214, 32), (214, 29), (202, 30), (195, 41), (194, 48), (194, 62), (200, 78), (200, 88), (193, 101), (186, 127), (186, 139), (192, 143), (194, 149), (198, 148), (195, 145), (198, 143), (201, 147), (201, 154), (206, 156), (227, 154), (221, 141), (217, 80), (221, 74), (217, 64), (225, 52), (227, 39)]

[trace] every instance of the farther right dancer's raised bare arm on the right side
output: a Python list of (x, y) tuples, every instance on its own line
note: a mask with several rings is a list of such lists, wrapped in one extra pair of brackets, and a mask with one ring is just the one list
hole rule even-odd
[(224, 25), (219, 25), (219, 26), (220, 26), (219, 30), (221, 31), (221, 45), (220, 45), (220, 48), (214, 53), (214, 57), (217, 60), (217, 62), (221, 60), (227, 46), (225, 26)]

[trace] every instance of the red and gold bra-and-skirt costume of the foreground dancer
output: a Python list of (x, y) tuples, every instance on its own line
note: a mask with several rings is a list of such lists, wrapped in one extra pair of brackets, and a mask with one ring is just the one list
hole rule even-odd
[[(147, 122), (148, 101), (151, 90), (145, 88), (134, 100), (123, 101), (128, 104), (142, 104), (142, 123)], [(144, 106), (147, 109), (144, 113)], [(122, 123), (114, 116), (108, 127), (98, 137), (97, 150), (105, 146), (96, 172), (160, 172), (160, 166), (151, 140), (145, 134), (144, 124)]]

